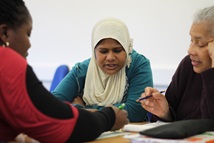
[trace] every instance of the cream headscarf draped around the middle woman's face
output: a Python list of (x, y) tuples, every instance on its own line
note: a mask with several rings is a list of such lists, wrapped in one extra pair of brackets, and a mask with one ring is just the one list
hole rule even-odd
[[(102, 39), (112, 38), (117, 40), (125, 49), (126, 65), (114, 75), (105, 74), (96, 64), (94, 48)], [(99, 21), (92, 31), (92, 57), (88, 66), (85, 81), (83, 100), (86, 105), (104, 106), (122, 101), (126, 74), (125, 68), (129, 67), (132, 52), (132, 39), (130, 39), (127, 26), (115, 18), (106, 18)]]

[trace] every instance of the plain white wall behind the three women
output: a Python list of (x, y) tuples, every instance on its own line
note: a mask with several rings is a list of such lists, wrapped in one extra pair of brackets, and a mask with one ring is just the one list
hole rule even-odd
[(93, 26), (102, 18), (116, 17), (129, 27), (134, 49), (150, 59), (157, 86), (171, 80), (178, 63), (187, 54), (194, 12), (213, 4), (213, 0), (25, 2), (33, 17), (32, 48), (27, 59), (41, 80), (47, 81), (59, 64), (72, 67), (89, 58)]

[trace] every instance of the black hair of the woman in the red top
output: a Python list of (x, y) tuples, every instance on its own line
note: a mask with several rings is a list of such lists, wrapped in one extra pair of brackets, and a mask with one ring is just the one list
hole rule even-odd
[(17, 29), (27, 22), (29, 16), (23, 0), (0, 0), (0, 24)]

